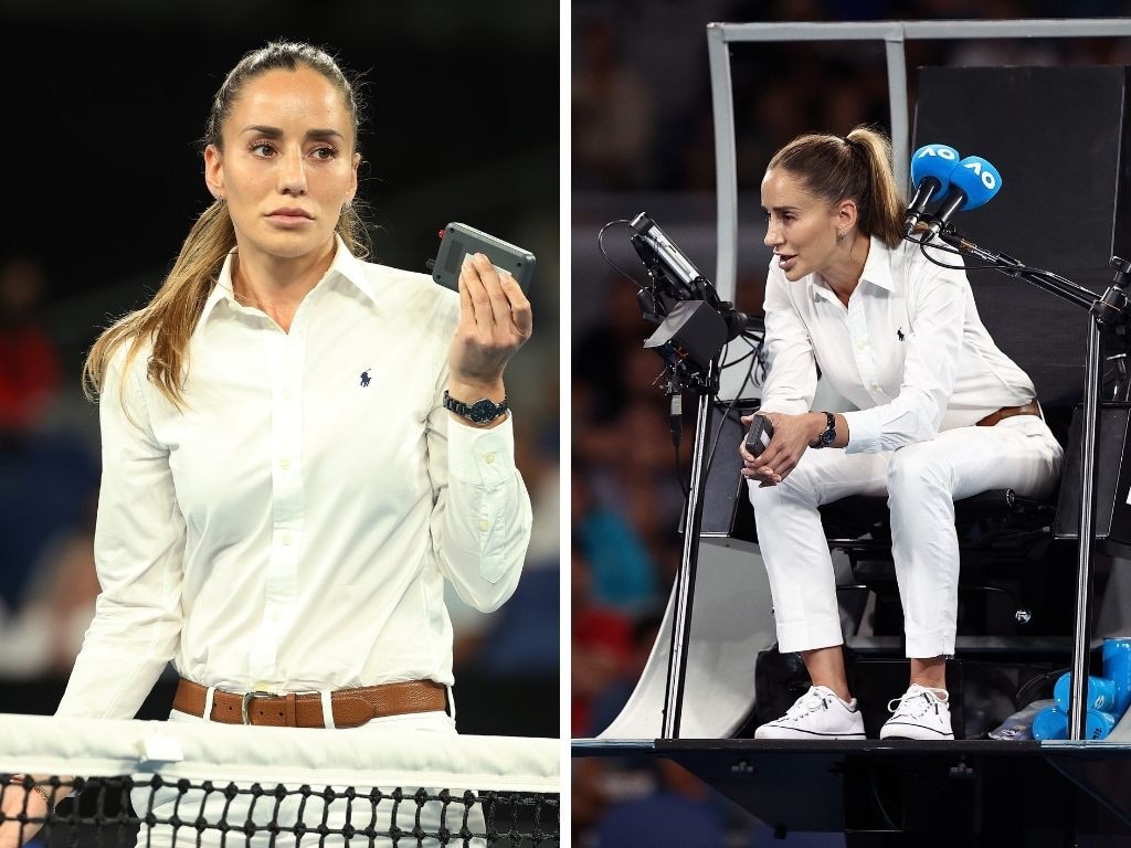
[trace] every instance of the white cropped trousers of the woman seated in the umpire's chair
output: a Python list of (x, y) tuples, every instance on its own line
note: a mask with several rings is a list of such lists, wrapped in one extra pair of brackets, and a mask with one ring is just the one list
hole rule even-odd
[(779, 650), (844, 642), (832, 559), (817, 508), (851, 494), (887, 493), (907, 656), (952, 655), (958, 618), (955, 501), (992, 488), (1047, 495), (1062, 460), (1063, 450), (1044, 421), (1016, 415), (996, 426), (947, 430), (932, 441), (882, 453), (806, 450), (780, 484), (760, 488), (751, 482)]

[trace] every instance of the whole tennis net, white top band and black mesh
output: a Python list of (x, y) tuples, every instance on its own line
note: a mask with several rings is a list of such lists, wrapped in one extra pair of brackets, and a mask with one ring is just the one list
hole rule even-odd
[(0, 846), (560, 845), (547, 738), (0, 715)]

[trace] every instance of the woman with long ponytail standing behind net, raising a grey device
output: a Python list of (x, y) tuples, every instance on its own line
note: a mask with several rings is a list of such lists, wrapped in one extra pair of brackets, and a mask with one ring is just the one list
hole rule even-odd
[(503, 370), (530, 305), (483, 256), (458, 296), (363, 261), (357, 124), (305, 44), (216, 94), (215, 202), (86, 364), (102, 594), (58, 715), (132, 718), (172, 660), (171, 720), (455, 733), (443, 580), (494, 609), (529, 538)]

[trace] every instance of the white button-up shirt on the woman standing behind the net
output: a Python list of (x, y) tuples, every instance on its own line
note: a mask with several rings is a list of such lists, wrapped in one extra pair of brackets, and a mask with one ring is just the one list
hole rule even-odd
[(443, 579), (484, 612), (518, 582), (530, 501), (511, 422), (441, 405), (458, 295), (339, 242), (284, 332), (236, 303), (230, 266), (183, 410), (146, 349), (112, 360), (102, 594), (60, 715), (132, 717), (170, 659), (236, 692), (451, 684)]

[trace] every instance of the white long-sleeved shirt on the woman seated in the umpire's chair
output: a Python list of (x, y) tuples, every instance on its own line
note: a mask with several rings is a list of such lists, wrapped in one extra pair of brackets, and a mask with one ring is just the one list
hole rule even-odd
[[(953, 265), (956, 258), (941, 254)], [(848, 306), (818, 274), (766, 282), (767, 412), (806, 413), (817, 369), (858, 412), (846, 412), (847, 452), (892, 450), (1033, 400), (1028, 375), (998, 349), (962, 270), (917, 245), (873, 237)]]

